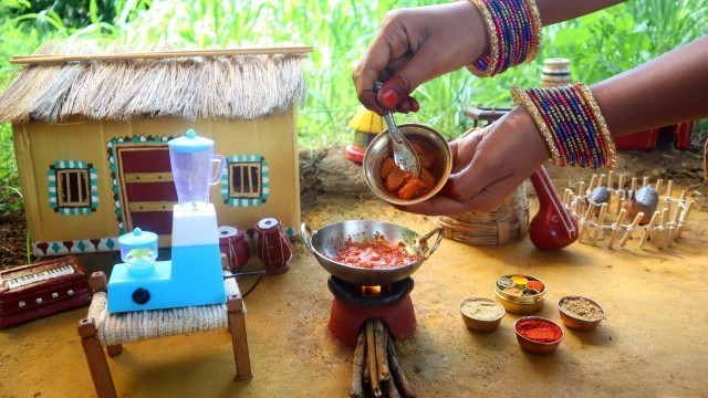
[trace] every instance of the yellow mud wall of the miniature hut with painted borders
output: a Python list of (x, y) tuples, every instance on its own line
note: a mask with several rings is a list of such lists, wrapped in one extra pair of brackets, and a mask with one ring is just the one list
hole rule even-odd
[[(261, 171), (266, 181), (261, 188), (266, 191), (261, 192), (260, 199), (229, 199), (227, 177), (211, 187), (210, 198), (220, 226), (251, 229), (266, 217), (279, 218), (290, 234), (294, 234), (300, 226), (295, 109), (253, 121), (77, 119), (62, 124), (28, 123), (14, 125), (13, 128), (28, 228), (33, 251), (38, 255), (116, 250), (117, 244), (111, 240), (139, 226), (122, 226), (118, 222), (121, 209), (116, 202), (121, 201), (114, 197), (112, 172), (115, 172), (115, 159), (111, 159), (110, 143), (133, 140), (136, 144), (149, 144), (160, 139), (166, 143), (170, 137), (184, 135), (189, 128), (214, 139), (215, 153), (232, 161), (257, 159), (263, 168)], [(52, 207), (56, 193), (52, 199), (48, 174), (51, 174), (49, 170), (52, 165), (61, 161), (64, 161), (59, 164), (61, 167), (69, 167), (70, 161), (79, 161), (82, 163), (80, 167), (95, 169), (93, 208), (62, 213)], [(166, 200), (165, 203), (171, 206), (173, 201)], [(43, 245), (41, 250), (38, 244)], [(52, 244), (66, 247), (52, 250)], [(168, 244), (169, 237), (160, 237), (160, 245)]]

